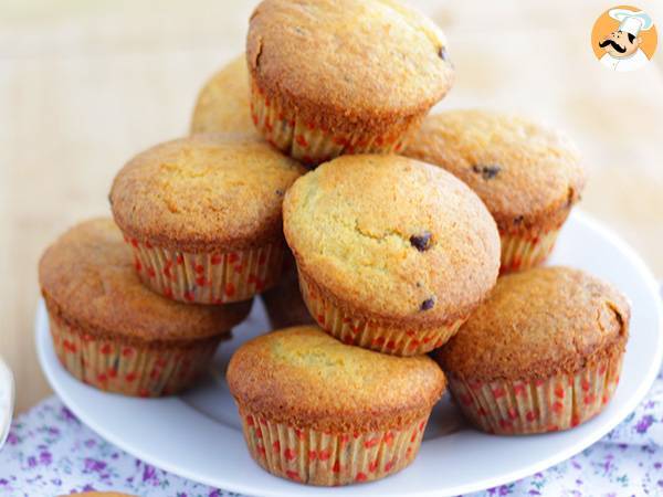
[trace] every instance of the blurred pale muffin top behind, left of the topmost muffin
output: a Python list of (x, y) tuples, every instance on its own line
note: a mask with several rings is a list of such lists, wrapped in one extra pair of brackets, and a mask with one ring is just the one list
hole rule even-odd
[(251, 120), (249, 71), (244, 54), (215, 73), (198, 95), (191, 133), (245, 133), (257, 130)]

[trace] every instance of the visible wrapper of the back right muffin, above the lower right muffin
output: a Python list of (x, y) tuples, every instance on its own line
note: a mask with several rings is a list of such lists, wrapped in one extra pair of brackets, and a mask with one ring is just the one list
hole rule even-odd
[(559, 230), (552, 230), (538, 236), (502, 234), (501, 273), (524, 271), (543, 263), (555, 246)]

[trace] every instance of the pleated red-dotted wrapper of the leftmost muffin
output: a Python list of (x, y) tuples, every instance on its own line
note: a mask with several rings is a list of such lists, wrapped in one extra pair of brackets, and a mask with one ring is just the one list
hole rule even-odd
[(52, 316), (50, 327), (55, 353), (72, 376), (99, 390), (135, 396), (169, 395), (190, 387), (208, 369), (222, 338), (150, 349), (74, 330)]

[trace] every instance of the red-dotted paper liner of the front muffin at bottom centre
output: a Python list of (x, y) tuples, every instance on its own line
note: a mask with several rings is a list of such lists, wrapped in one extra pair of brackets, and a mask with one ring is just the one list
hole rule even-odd
[(309, 485), (371, 482), (413, 459), (429, 415), (400, 430), (326, 433), (272, 422), (240, 408), (251, 457), (269, 473)]

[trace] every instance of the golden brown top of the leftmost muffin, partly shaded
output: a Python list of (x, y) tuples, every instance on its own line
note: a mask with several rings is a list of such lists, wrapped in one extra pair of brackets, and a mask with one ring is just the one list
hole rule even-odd
[(42, 255), (39, 282), (63, 319), (98, 335), (188, 340), (230, 330), (251, 302), (224, 306), (180, 304), (145, 287), (130, 248), (110, 219), (80, 223)]

